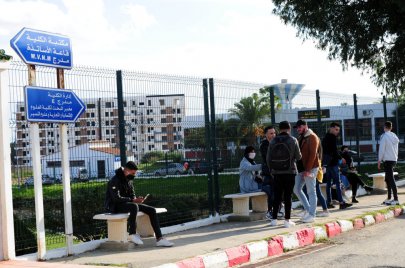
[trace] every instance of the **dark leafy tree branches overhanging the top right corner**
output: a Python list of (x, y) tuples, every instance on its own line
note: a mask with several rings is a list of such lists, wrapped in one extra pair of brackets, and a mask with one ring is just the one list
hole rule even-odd
[(273, 0), (273, 13), (317, 40), (330, 60), (371, 74), (387, 94), (405, 92), (403, 0)]

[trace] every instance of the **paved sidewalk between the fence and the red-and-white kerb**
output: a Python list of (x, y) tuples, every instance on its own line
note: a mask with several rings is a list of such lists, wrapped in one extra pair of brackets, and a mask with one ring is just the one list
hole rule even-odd
[[(405, 188), (399, 187), (398, 194), (400, 202), (404, 202)], [(166, 263), (174, 263), (198, 255), (225, 250), (247, 242), (262, 240), (277, 234), (285, 234), (315, 224), (328, 223), (336, 221), (337, 219), (352, 219), (361, 216), (366, 212), (387, 208), (387, 206), (381, 205), (381, 202), (385, 199), (386, 194), (373, 194), (358, 197), (360, 203), (354, 204), (353, 207), (345, 210), (339, 210), (338, 208), (331, 209), (329, 217), (317, 218), (312, 224), (299, 222), (299, 218), (295, 216), (299, 211), (295, 210), (292, 213), (292, 220), (296, 221), (297, 225), (294, 228), (289, 229), (283, 227), (283, 221), (281, 220), (276, 227), (271, 227), (269, 222), (265, 220), (255, 222), (226, 222), (168, 235), (167, 238), (175, 243), (175, 246), (172, 248), (157, 248), (155, 247), (155, 240), (153, 238), (148, 238), (144, 239), (144, 245), (137, 246), (130, 251), (120, 252), (97, 249), (77, 256), (50, 260), (46, 263), (55, 264), (53, 267), (64, 267), (61, 264), (110, 264), (121, 267), (123, 267), (122, 265), (130, 264), (127, 267), (154, 267)], [(319, 210), (320, 208), (318, 207), (318, 211)], [(0, 267), (13, 266), (4, 266), (3, 262), (0, 262)], [(22, 267), (48, 266), (29, 266), (27, 263), (27, 266)], [(68, 268), (68, 266), (66, 268)]]

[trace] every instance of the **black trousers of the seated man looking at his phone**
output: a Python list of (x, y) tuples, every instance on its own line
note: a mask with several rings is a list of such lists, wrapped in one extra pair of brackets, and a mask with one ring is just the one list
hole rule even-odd
[(162, 237), (162, 232), (160, 230), (159, 219), (156, 214), (156, 209), (154, 207), (145, 204), (136, 204), (132, 202), (117, 204), (117, 213), (128, 213), (128, 225), (129, 234), (136, 234), (136, 214), (141, 211), (149, 216), (150, 223), (152, 225), (153, 231), (155, 232), (156, 239)]

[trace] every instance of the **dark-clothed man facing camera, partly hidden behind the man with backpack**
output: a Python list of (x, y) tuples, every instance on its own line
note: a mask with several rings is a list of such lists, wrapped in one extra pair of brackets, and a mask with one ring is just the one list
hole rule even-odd
[(270, 141), (276, 136), (276, 129), (274, 126), (267, 126), (264, 128), (264, 139), (260, 143), (260, 153), (262, 155), (262, 191), (267, 194), (267, 213), (266, 219), (271, 220), (271, 211), (273, 209), (274, 202), (274, 177), (271, 174), (269, 167), (267, 166), (267, 151), (269, 149)]

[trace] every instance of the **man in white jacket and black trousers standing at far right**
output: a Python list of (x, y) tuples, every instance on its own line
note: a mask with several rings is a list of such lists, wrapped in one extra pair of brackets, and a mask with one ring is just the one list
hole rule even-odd
[[(380, 138), (380, 147), (378, 149), (378, 169), (381, 168), (381, 162), (384, 162), (385, 182), (387, 183), (388, 198), (384, 200), (385, 205), (399, 205), (397, 186), (394, 180), (394, 166), (398, 160), (399, 139), (395, 133), (391, 132), (392, 122), (384, 123), (384, 134)], [(391, 200), (391, 192), (394, 199)]]

